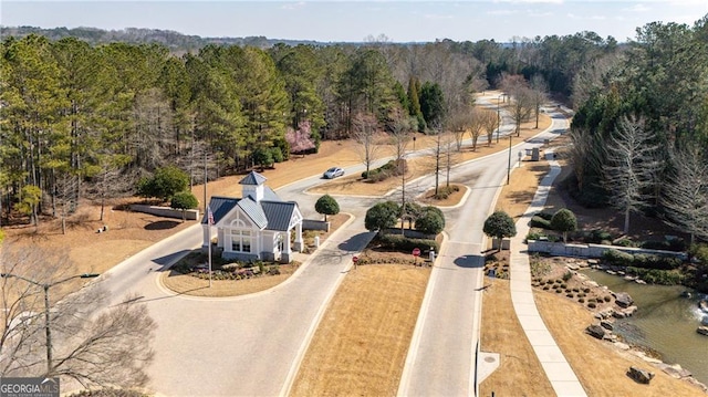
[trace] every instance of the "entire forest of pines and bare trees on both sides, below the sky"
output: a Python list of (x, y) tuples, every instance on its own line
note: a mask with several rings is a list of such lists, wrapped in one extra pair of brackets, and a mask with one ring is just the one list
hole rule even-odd
[[(602, 148), (624, 115), (645, 122), (666, 158), (679, 146), (705, 156), (707, 36), (706, 18), (693, 28), (649, 24), (625, 44), (593, 32), (504, 44), (397, 44), (382, 35), (358, 44), (198, 50), (8, 36), (0, 220), (12, 209), (37, 221), (85, 199), (129, 196), (140, 177), (166, 166), (198, 184), (205, 165), (214, 178), (316, 150), (321, 139), (396, 135), (402, 125), (476, 138), (480, 123), (496, 127), (491, 112), (472, 111), (472, 94), (488, 87), (511, 96), (517, 124), (538, 116), (549, 92), (572, 102), (576, 185), (606, 202)], [(655, 209), (677, 169), (652, 173), (646, 189)]]

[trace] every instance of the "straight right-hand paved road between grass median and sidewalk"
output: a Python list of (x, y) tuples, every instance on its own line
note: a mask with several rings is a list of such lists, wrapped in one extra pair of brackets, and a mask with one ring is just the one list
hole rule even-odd
[[(508, 127), (509, 128), (509, 127)], [(566, 128), (562, 117), (543, 135), (511, 149), (538, 147)], [(475, 361), (479, 339), (485, 243), (482, 226), (507, 177), (509, 153), (457, 167), (452, 181), (471, 189), (460, 207), (446, 210), (449, 239), (433, 270), (398, 389), (399, 396), (476, 395)], [(512, 176), (513, 177), (513, 176)], [(425, 185), (425, 181), (421, 181)], [(429, 185), (428, 185), (429, 186)]]

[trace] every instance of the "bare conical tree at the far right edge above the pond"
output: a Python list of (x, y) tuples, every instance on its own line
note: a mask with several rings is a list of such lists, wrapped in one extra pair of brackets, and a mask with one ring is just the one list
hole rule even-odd
[(664, 185), (662, 203), (667, 223), (690, 234), (708, 240), (708, 164), (698, 150), (679, 149), (673, 156), (674, 171)]

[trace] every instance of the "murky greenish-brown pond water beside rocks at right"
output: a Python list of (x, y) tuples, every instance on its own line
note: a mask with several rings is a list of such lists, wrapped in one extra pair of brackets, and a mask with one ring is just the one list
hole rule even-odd
[[(582, 271), (614, 292), (626, 292), (638, 310), (634, 316), (617, 320), (615, 333), (627, 342), (650, 347), (668, 364), (680, 364), (694, 377), (708, 385), (708, 336), (696, 328), (706, 313), (698, 307), (699, 296), (681, 296), (685, 286), (644, 285), (602, 271)], [(706, 299), (706, 295), (701, 295)]]

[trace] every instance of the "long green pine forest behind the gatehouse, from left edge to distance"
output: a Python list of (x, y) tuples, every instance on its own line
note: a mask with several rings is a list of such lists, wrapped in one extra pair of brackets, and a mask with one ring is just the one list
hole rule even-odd
[[(395, 44), (92, 45), (73, 36), (8, 36), (0, 48), (0, 219), (15, 208), (65, 216), (84, 199), (131, 195), (177, 166), (190, 184), (268, 166), (362, 129), (458, 135), (475, 128), (475, 92), (523, 86), (573, 94), (581, 66), (616, 54), (613, 38)], [(504, 82), (517, 81), (520, 84)], [(538, 83), (538, 84), (537, 84)], [(518, 103), (518, 102), (514, 102)], [(538, 103), (535, 101), (535, 114)], [(485, 123), (491, 130), (493, 117)], [(402, 123), (405, 122), (405, 123)], [(460, 135), (461, 136), (461, 135)]]

